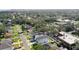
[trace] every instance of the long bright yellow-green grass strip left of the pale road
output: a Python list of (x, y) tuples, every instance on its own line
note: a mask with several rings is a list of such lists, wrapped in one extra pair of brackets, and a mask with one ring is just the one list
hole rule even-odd
[[(19, 36), (18, 32), (22, 31), (21, 26), (20, 25), (14, 25), (12, 28), (13, 28), (13, 36), (12, 36), (13, 47), (19, 48), (21, 39), (18, 37)], [(14, 44), (14, 43), (16, 43), (16, 44)]]

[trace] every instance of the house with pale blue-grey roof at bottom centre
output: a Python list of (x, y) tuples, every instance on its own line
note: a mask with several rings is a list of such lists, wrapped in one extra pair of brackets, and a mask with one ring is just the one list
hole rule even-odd
[(35, 35), (33, 37), (33, 41), (35, 41), (38, 44), (47, 44), (48, 37), (46, 35)]

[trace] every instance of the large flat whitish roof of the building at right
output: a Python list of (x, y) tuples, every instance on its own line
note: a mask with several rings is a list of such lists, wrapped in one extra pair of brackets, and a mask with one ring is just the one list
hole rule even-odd
[(66, 32), (60, 32), (60, 34), (62, 34), (63, 36), (60, 36), (59, 38), (68, 44), (74, 44), (76, 40), (79, 40), (79, 38)]

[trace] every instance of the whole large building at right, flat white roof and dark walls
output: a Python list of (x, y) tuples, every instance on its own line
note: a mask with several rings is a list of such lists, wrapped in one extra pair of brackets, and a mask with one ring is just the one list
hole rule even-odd
[(75, 45), (75, 42), (79, 40), (79, 38), (66, 32), (60, 32), (60, 34), (62, 34), (62, 36), (59, 36), (59, 39), (62, 41), (63, 45), (69, 49), (72, 49), (72, 47)]

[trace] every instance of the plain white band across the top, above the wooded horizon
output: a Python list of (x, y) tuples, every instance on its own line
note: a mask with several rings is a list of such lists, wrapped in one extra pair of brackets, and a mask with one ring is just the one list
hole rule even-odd
[(79, 9), (78, 0), (0, 0), (0, 10), (6, 9)]

